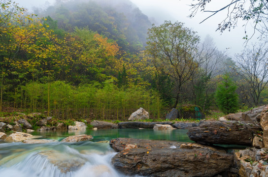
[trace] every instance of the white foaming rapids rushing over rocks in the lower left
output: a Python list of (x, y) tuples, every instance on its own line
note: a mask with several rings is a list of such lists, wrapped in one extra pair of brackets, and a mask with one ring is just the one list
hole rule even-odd
[(0, 177), (125, 177), (107, 142), (0, 143)]

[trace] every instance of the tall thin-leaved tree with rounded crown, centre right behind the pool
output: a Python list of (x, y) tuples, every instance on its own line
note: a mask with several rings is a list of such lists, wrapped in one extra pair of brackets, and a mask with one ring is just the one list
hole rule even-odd
[[(196, 58), (200, 37), (180, 22), (165, 21), (148, 29), (146, 52), (152, 58), (158, 77), (168, 76), (174, 82), (170, 96), (175, 99), (172, 107), (181, 100), (182, 86), (192, 79), (201, 60)], [(161, 86), (163, 83), (157, 83)], [(161, 91), (161, 90), (160, 90)]]

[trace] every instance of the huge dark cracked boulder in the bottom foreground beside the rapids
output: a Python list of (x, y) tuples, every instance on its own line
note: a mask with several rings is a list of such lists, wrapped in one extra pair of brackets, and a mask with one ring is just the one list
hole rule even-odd
[(134, 148), (117, 153), (111, 162), (125, 175), (213, 177), (232, 161), (233, 155), (210, 149)]

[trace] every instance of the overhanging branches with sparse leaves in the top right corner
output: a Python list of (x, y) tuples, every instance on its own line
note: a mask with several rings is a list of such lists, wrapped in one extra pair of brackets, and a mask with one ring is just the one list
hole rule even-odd
[[(254, 33), (258, 30), (261, 32), (261, 35), (268, 34), (268, 0), (228, 0), (228, 2), (218, 10), (211, 10), (211, 8), (207, 6), (209, 2), (210, 4), (213, 2), (217, 3), (215, 0), (213, 2), (211, 1), (212, 0), (198, 0), (192, 3), (192, 13), (190, 17), (194, 17), (198, 11), (210, 13), (210, 15), (202, 21), (204, 22), (218, 12), (226, 10), (226, 17), (219, 23), (217, 30), (221, 32), (226, 29), (231, 30), (236, 27), (238, 19), (242, 19), (244, 20), (245, 26), (247, 26), (249, 21), (253, 22)], [(254, 35), (254, 33), (252, 35)], [(248, 39), (247, 33), (244, 38)]]

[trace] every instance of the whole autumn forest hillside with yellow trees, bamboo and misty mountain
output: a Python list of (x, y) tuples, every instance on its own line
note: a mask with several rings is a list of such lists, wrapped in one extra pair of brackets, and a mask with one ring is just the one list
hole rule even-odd
[(206, 114), (268, 104), (266, 43), (231, 58), (183, 23), (153, 24), (129, 0), (57, 0), (34, 13), (0, 4), (0, 112), (125, 120), (142, 107), (165, 119), (185, 104)]

